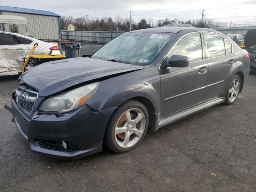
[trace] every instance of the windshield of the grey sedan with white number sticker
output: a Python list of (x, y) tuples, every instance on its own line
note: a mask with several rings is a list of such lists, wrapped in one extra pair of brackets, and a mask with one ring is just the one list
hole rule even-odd
[(92, 58), (147, 65), (158, 56), (172, 33), (125, 33), (100, 48)]

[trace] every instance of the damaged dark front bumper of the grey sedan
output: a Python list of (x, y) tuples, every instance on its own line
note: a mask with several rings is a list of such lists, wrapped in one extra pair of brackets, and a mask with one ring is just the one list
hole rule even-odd
[[(28, 140), (30, 148), (35, 152), (61, 159), (78, 159), (100, 152), (106, 125), (114, 111), (114, 108), (110, 108), (92, 112), (83, 106), (64, 116), (48, 114), (28, 118), (13, 99), (11, 104), (16, 127)], [(72, 149), (48, 147), (44, 141), (65, 141)]]

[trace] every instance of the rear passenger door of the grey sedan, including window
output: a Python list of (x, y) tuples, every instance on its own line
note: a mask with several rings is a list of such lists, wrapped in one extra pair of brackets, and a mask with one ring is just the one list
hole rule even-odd
[(225, 95), (230, 70), (236, 62), (233, 44), (220, 34), (203, 32), (209, 74), (205, 100)]

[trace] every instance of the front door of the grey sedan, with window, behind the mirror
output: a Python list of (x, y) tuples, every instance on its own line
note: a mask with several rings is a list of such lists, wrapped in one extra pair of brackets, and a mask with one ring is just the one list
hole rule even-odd
[(177, 113), (204, 101), (208, 78), (208, 63), (204, 59), (202, 34), (186, 34), (170, 50), (172, 55), (188, 56), (188, 67), (160, 68), (161, 112), (160, 118)]

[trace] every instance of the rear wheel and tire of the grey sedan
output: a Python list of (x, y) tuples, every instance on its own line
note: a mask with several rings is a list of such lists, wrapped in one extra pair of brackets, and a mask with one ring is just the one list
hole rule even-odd
[(231, 105), (236, 101), (240, 92), (240, 88), (241, 88), (240, 76), (235, 75), (228, 86), (228, 90), (226, 92), (225, 104)]

